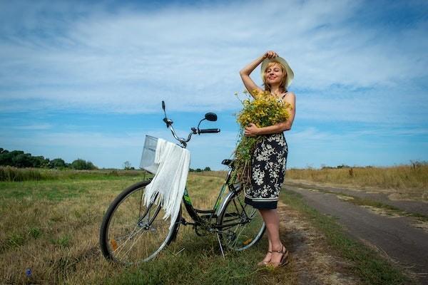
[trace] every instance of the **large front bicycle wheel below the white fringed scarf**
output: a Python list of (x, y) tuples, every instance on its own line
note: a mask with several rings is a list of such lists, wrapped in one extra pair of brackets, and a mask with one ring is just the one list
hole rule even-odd
[(138, 264), (156, 257), (178, 231), (181, 211), (173, 229), (170, 218), (158, 204), (143, 203), (150, 181), (138, 182), (123, 190), (108, 207), (100, 229), (100, 246), (106, 259)]

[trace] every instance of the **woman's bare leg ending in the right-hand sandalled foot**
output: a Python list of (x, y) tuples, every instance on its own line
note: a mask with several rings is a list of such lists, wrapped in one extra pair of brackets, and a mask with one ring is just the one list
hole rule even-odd
[(260, 209), (260, 214), (262, 214), (266, 224), (270, 250), (274, 251), (271, 254), (270, 261), (272, 263), (279, 263), (282, 254), (277, 252), (282, 250), (282, 243), (280, 240), (280, 217), (278, 216), (277, 209)]

